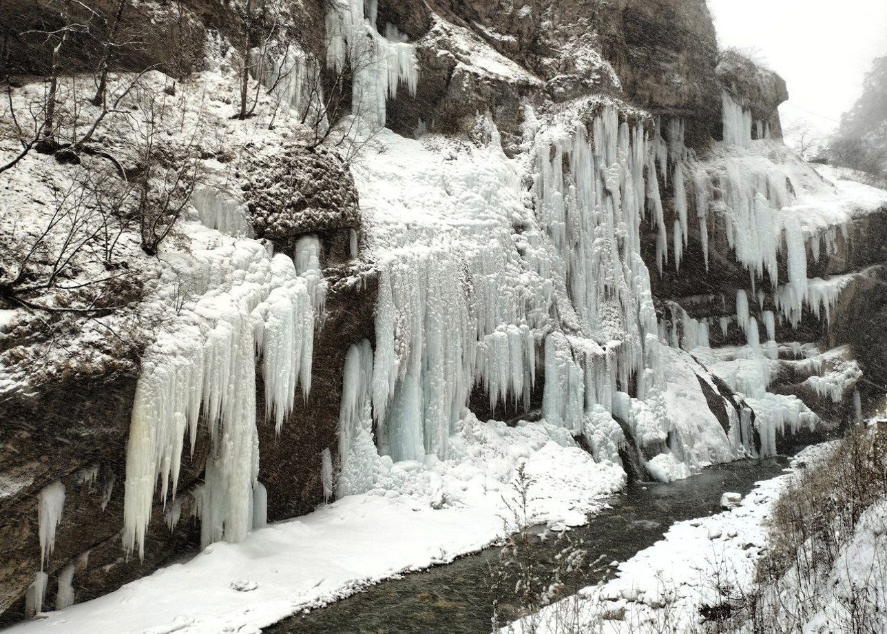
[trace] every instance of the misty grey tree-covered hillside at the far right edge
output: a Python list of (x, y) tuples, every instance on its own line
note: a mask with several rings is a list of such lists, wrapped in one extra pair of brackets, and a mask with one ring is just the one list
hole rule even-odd
[(856, 104), (828, 144), (833, 162), (887, 178), (887, 56), (875, 59)]

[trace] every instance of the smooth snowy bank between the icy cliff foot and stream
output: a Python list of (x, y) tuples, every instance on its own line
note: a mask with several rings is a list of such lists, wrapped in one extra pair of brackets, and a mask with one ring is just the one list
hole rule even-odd
[[(13, 627), (17, 634), (253, 634), (405, 571), (450, 562), (504, 535), (516, 464), (536, 480), (530, 510), (576, 526), (624, 472), (596, 464), (546, 424), (481, 424), (453, 436), (457, 458), (390, 465), (386, 481), (302, 518), (214, 543), (194, 559), (104, 597)], [(414, 493), (401, 493), (413, 491)], [(424, 495), (430, 491), (433, 495)]]

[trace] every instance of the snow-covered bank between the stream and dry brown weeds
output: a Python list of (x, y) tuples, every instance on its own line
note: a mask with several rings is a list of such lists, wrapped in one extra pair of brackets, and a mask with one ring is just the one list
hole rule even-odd
[[(718, 588), (748, 589), (767, 549), (767, 518), (797, 465), (828, 456), (834, 443), (805, 449), (785, 475), (758, 483), (739, 506), (706, 518), (674, 524), (663, 539), (619, 564), (616, 577), (581, 590), (503, 632), (689, 632), (701, 622), (701, 606), (724, 601)], [(601, 623), (603, 630), (600, 630)]]

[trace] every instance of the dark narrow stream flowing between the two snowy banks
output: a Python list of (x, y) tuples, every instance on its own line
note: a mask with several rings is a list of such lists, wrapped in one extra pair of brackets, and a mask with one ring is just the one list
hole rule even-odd
[[(672, 523), (720, 511), (721, 494), (745, 495), (759, 480), (779, 475), (788, 460), (771, 458), (722, 464), (692, 478), (660, 484), (631, 483), (608, 502), (612, 508), (590, 517), (584, 527), (569, 531), (582, 540), (589, 560), (581, 578), (570, 587), (593, 585), (612, 575), (610, 562), (631, 559), (662, 538)], [(549, 537), (534, 548), (533, 557), (554, 567), (562, 541)], [(498, 565), (497, 547), (457, 559), (446, 566), (381, 582), (364, 592), (309, 614), (296, 614), (263, 630), (265, 634), (483, 634), (491, 631), (491, 567)]]

